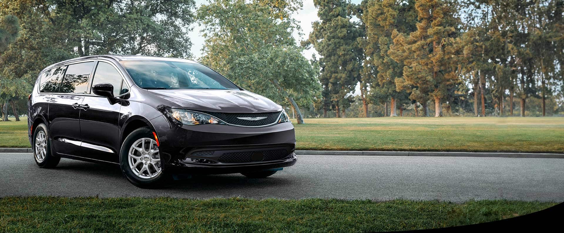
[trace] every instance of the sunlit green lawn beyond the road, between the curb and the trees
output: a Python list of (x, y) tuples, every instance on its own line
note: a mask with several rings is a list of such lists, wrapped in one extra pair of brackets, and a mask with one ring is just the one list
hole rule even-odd
[[(0, 122), (0, 147), (30, 146), (21, 119)], [(564, 153), (564, 118), (314, 118), (296, 137), (298, 150)]]

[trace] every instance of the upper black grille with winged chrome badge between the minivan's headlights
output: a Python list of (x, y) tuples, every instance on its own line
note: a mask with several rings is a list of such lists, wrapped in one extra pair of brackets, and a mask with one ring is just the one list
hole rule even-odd
[[(235, 124), (237, 126), (266, 126), (267, 124), (275, 123), (280, 116), (280, 111), (276, 111), (273, 113), (211, 113), (202, 111), (202, 113), (209, 114), (215, 116), (227, 122), (229, 124)], [(265, 119), (262, 120), (243, 120), (238, 119), (238, 117), (261, 117), (266, 116)]]

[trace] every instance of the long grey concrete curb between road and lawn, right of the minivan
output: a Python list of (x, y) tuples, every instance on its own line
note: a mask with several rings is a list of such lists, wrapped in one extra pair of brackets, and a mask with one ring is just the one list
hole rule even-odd
[(297, 155), (353, 155), (353, 156), (453, 156), (453, 157), (505, 157), (505, 158), (557, 158), (564, 154), (537, 153), (484, 153), (484, 152), (439, 152), (439, 151), (338, 151), (296, 150)]

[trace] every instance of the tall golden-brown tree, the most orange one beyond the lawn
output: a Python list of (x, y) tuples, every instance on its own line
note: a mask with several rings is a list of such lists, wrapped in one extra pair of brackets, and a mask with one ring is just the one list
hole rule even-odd
[(409, 36), (394, 30), (390, 56), (403, 62), (403, 77), (395, 80), (397, 90), (411, 88), (410, 98), (426, 102), (434, 98), (435, 116), (442, 116), (441, 99), (457, 81), (456, 42), (459, 20), (455, 8), (440, 0), (415, 3), (417, 30)]

